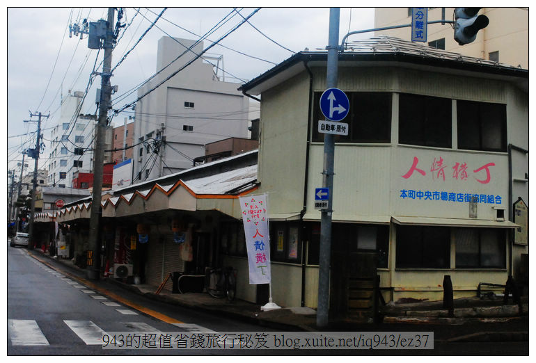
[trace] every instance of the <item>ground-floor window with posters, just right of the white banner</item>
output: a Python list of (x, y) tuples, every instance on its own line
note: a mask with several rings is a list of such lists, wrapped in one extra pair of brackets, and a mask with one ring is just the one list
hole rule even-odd
[(271, 223), (270, 249), (272, 261), (301, 264), (299, 225), (297, 223)]

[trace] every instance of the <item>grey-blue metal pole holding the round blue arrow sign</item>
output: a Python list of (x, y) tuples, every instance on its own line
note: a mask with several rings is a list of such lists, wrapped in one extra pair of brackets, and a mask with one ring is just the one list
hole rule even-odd
[[(329, 9), (329, 43), (326, 89), (337, 87), (339, 56), (339, 19), (340, 9)], [(322, 209), (320, 220), (320, 263), (318, 275), (317, 326), (328, 324), (329, 314), (329, 270), (331, 264), (331, 213), (333, 212), (333, 159), (335, 143), (332, 134), (324, 134), (324, 171), (322, 187), (329, 188), (328, 208)]]

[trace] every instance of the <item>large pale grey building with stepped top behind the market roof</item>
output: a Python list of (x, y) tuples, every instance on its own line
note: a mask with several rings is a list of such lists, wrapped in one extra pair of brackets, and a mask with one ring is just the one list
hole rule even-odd
[[(203, 51), (202, 42), (187, 51), (194, 44), (161, 38), (157, 72), (162, 71), (139, 89), (138, 97)], [(198, 58), (136, 103), (134, 143), (141, 144), (134, 148), (133, 184), (191, 168), (193, 159), (205, 154), (207, 143), (248, 136), (249, 99), (237, 90), (238, 83), (221, 81), (216, 72)], [(162, 137), (164, 147), (155, 147)]]

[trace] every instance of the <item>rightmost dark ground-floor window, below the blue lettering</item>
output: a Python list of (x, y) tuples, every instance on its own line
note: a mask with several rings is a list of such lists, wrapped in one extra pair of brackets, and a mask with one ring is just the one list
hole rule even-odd
[(456, 268), (505, 268), (505, 232), (491, 228), (458, 228)]

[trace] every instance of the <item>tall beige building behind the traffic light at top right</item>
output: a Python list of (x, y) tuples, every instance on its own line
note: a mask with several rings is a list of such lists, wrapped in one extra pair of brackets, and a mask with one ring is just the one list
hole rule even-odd
[[(464, 56), (528, 69), (528, 8), (482, 8), (479, 15), (486, 15), (489, 25), (478, 32), (474, 42), (458, 45), (453, 24), (429, 24), (427, 44)], [(445, 8), (445, 19), (454, 20), (454, 8)], [(434, 20), (441, 20), (441, 8), (428, 8), (428, 21)], [(402, 24), (411, 24), (411, 8), (375, 8), (375, 28)], [(411, 40), (410, 29), (376, 33)]]

